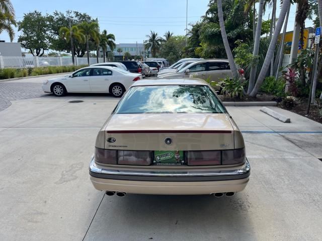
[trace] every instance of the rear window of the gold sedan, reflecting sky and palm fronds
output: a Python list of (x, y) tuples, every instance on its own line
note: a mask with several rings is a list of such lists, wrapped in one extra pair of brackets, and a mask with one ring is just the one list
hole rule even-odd
[(225, 113), (206, 85), (134, 86), (114, 111), (132, 113)]

